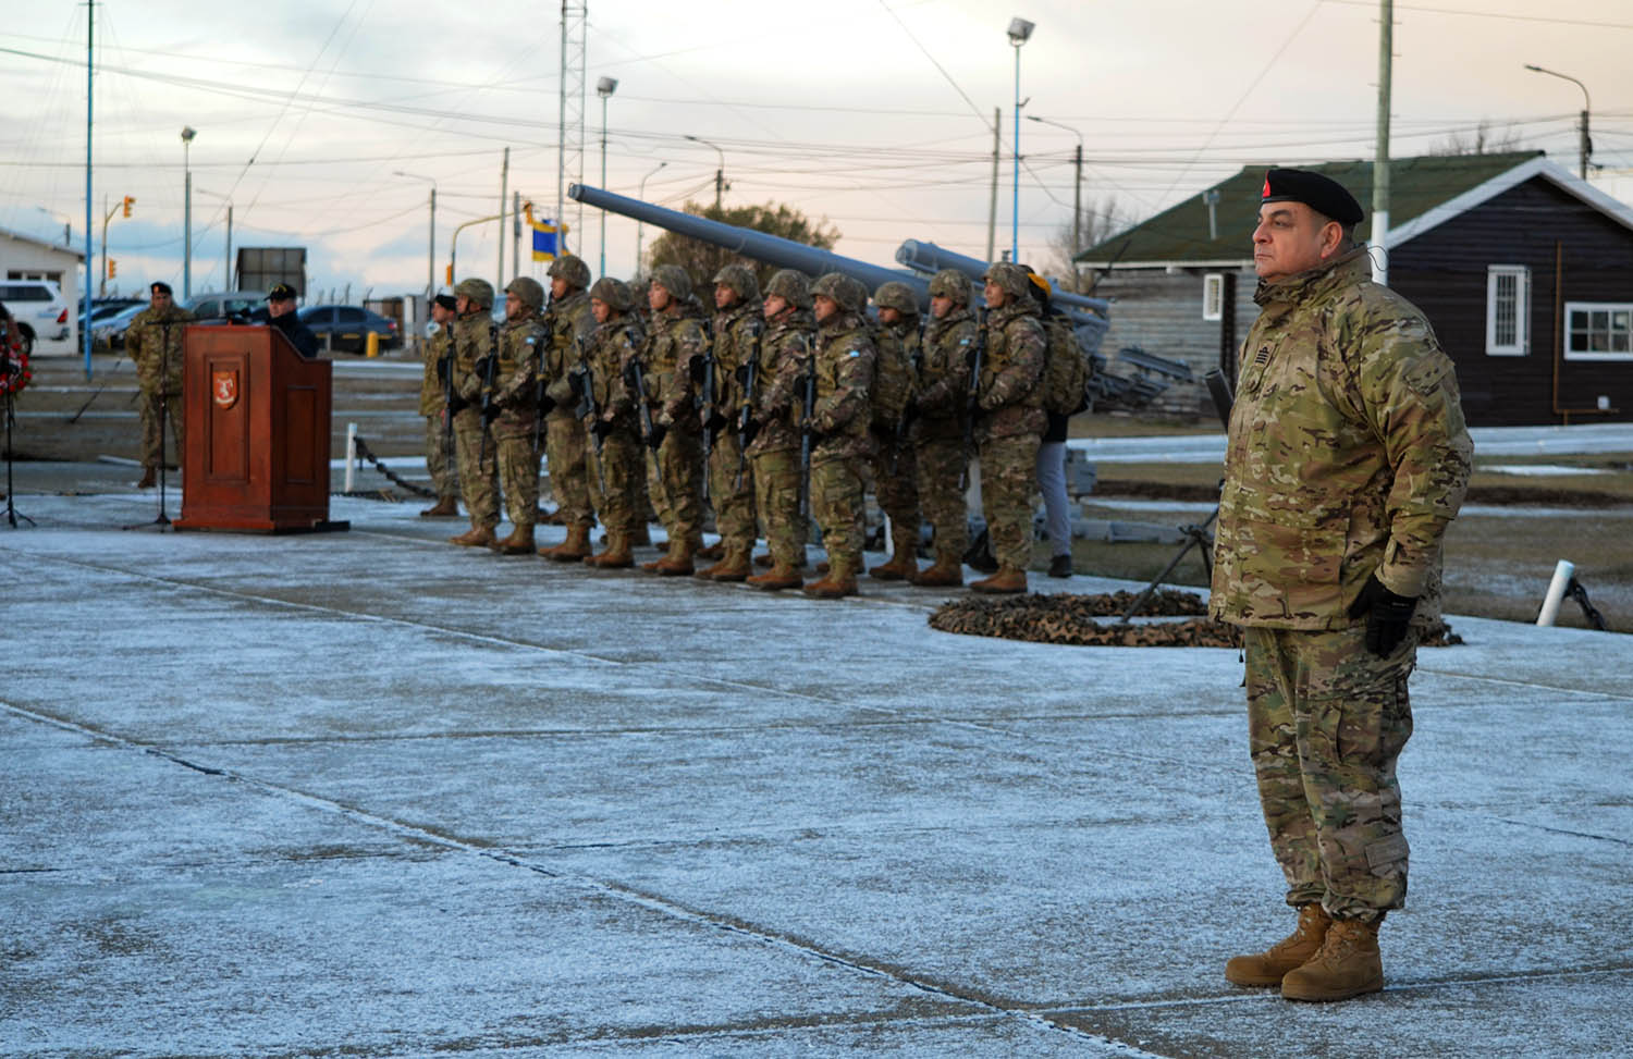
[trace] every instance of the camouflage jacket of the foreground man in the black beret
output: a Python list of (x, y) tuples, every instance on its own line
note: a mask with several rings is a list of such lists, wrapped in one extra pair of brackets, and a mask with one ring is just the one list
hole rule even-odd
[(1239, 354), (1215, 537), (1215, 618), (1344, 628), (1367, 578), (1439, 617), (1440, 540), (1473, 444), (1424, 315), (1365, 250), (1259, 284)]

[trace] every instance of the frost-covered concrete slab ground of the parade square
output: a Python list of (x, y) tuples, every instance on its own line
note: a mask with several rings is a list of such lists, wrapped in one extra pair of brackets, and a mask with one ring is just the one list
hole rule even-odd
[(1626, 636), (1422, 653), (1390, 984), (1311, 1007), (1221, 977), (1292, 924), (1233, 651), (18, 503), (3, 1054), (1628, 1054)]

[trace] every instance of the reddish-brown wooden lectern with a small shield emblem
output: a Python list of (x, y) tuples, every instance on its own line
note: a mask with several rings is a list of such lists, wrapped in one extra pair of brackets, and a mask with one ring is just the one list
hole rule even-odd
[(333, 366), (269, 326), (189, 326), (183, 338), (181, 517), (175, 527), (343, 530), (328, 519)]

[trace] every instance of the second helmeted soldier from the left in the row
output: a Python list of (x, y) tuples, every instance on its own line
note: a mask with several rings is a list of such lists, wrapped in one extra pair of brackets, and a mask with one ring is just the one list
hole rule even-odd
[(544, 287), (518, 276), (505, 287), (505, 326), (500, 328), (493, 370), (493, 447), (500, 486), (511, 517), (511, 534), (493, 542), (500, 555), (537, 555), (532, 525), (539, 516), (539, 357), (549, 333), (539, 320)]

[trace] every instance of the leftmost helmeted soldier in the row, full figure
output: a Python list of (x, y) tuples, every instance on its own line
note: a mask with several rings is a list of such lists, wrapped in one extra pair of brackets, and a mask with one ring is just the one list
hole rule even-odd
[[(464, 493), (470, 529), (449, 543), (487, 547), (496, 538), (500, 524), (500, 472), (493, 455), (493, 437), (482, 418), (482, 387), (488, 374), (488, 357), (498, 346), (493, 326), (493, 284), (485, 279), (462, 279), (454, 287), (454, 454), (459, 457), (459, 490)], [(496, 367), (496, 362), (495, 362)]]

